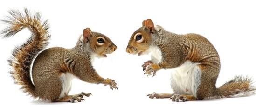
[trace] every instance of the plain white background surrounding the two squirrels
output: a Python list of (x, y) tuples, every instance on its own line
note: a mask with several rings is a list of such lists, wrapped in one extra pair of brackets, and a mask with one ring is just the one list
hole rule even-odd
[[(85, 101), (69, 103), (42, 103), (22, 93), (8, 74), (7, 58), (14, 46), (24, 42), (28, 30), (13, 38), (0, 39), (0, 106), (1, 109), (24, 111), (173, 111), (173, 110), (252, 110), (256, 96), (203, 101), (172, 102), (169, 99), (149, 99), (147, 94), (172, 93), (170, 74), (158, 71), (152, 78), (143, 75), (141, 65), (150, 56), (130, 55), (125, 48), (133, 31), (141, 27), (144, 19), (161, 25), (177, 34), (198, 33), (208, 38), (221, 58), (219, 87), (235, 75), (249, 75), (256, 80), (256, 4), (253, 0), (2, 0), (0, 19), (9, 9), (24, 7), (42, 13), (49, 20), (49, 47), (72, 48), (83, 29), (103, 33), (111, 38), (118, 49), (104, 59), (96, 59), (94, 66), (104, 78), (116, 80), (118, 90), (102, 84), (73, 80), (69, 94), (92, 93)], [(0, 30), (4, 26), (0, 24)]]

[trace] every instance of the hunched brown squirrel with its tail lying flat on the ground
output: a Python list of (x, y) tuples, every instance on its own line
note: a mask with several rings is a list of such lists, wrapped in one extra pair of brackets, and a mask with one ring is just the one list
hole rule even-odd
[(151, 53), (152, 60), (142, 65), (144, 74), (156, 75), (160, 69), (172, 69), (171, 87), (174, 93), (152, 93), (149, 98), (170, 98), (173, 102), (231, 98), (255, 94), (249, 77), (234, 79), (216, 88), (220, 73), (220, 58), (214, 46), (201, 35), (178, 35), (154, 25), (151, 19), (144, 20), (135, 31), (126, 52), (130, 54)]

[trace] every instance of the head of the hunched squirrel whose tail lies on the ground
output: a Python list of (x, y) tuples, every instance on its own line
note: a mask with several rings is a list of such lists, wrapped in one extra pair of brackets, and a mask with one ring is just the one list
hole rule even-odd
[(145, 53), (152, 44), (152, 34), (154, 33), (156, 33), (156, 30), (152, 20), (144, 20), (142, 22), (142, 27), (132, 34), (126, 52), (134, 55), (138, 54), (138, 56)]

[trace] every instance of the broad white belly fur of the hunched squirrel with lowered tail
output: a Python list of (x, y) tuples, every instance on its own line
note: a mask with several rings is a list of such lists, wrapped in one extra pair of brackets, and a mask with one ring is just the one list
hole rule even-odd
[(170, 80), (174, 93), (194, 95), (196, 97), (201, 78), (201, 69), (197, 66), (198, 64), (187, 61), (171, 70)]

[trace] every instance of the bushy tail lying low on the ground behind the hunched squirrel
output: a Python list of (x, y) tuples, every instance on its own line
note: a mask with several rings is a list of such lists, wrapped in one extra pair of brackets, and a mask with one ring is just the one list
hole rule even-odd
[(220, 93), (220, 98), (250, 96), (256, 92), (256, 87), (252, 86), (252, 83), (249, 77), (235, 76), (217, 89)]

